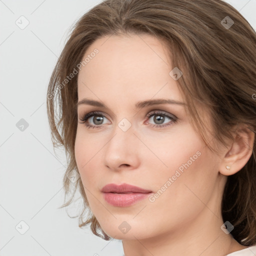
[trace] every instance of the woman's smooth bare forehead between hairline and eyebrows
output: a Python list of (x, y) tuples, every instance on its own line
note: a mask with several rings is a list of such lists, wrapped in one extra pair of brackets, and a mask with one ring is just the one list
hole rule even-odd
[[(96, 54), (91, 54), (97, 49)], [(82, 59), (78, 97), (130, 96), (141, 100), (154, 95), (182, 100), (164, 43), (149, 34), (104, 36), (95, 40)], [(94, 95), (93, 95), (94, 94)], [(96, 99), (96, 98), (95, 98)]]

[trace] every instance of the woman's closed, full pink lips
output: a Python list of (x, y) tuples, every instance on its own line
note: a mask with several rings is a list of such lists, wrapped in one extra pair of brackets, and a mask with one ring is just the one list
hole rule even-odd
[(129, 206), (136, 201), (148, 197), (152, 193), (151, 190), (146, 190), (141, 187), (123, 183), (107, 184), (102, 189), (104, 199), (114, 206)]

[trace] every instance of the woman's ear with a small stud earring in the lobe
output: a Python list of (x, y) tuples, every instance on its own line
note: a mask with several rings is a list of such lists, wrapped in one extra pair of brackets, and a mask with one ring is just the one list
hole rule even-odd
[(224, 151), (219, 172), (232, 175), (239, 171), (249, 160), (253, 151), (254, 131), (245, 124), (240, 124), (235, 130), (233, 141)]

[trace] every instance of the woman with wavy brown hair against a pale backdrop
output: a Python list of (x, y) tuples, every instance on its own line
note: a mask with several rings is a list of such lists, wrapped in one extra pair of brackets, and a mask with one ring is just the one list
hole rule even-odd
[(106, 0), (78, 20), (47, 110), (80, 227), (125, 256), (256, 254), (255, 45), (221, 0)]

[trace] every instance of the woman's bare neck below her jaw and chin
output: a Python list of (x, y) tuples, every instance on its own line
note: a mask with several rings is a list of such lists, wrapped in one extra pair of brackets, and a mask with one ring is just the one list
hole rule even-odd
[(223, 224), (220, 209), (217, 214), (212, 213), (209, 207), (204, 207), (195, 219), (168, 233), (124, 239), (125, 256), (224, 256), (245, 248), (220, 228)]

